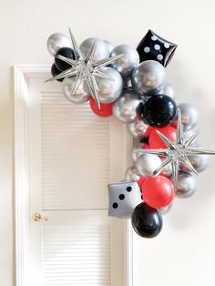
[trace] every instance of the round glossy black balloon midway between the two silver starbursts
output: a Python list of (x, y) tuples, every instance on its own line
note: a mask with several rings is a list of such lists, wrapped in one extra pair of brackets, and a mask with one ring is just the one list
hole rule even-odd
[(152, 127), (163, 128), (171, 124), (177, 115), (177, 105), (171, 97), (150, 97), (142, 107), (141, 118)]

